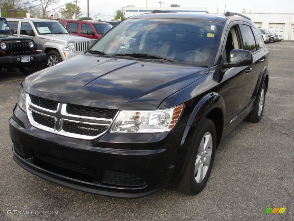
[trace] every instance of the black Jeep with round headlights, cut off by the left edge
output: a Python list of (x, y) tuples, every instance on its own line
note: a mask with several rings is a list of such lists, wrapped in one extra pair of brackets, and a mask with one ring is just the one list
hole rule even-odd
[(0, 17), (0, 72), (2, 68), (19, 68), (28, 75), (40, 70), (46, 54), (36, 54), (33, 39), (12, 35), (5, 18)]

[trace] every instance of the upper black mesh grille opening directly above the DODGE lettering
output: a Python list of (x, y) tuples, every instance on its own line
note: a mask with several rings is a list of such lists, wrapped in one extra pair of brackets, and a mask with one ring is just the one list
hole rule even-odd
[(86, 117), (96, 117), (96, 118), (114, 118), (117, 110), (107, 109), (107, 108), (94, 108), (88, 106), (81, 106), (75, 104), (67, 104), (66, 112), (69, 114), (86, 116)]

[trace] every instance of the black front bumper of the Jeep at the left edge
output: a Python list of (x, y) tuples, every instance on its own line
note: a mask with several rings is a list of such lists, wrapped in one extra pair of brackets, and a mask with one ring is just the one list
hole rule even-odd
[[(30, 57), (29, 62), (24, 61), (24, 57)], [(46, 54), (31, 54), (31, 55), (14, 55), (0, 57), (0, 66), (2, 68), (19, 68), (19, 67), (32, 67), (40, 62), (44, 62)]]

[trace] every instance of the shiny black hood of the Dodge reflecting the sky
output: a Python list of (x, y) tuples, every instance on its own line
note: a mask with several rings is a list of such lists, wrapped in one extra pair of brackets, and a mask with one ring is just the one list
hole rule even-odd
[[(51, 100), (114, 109), (156, 109), (168, 96), (208, 73), (207, 67), (77, 55), (24, 81)], [(160, 61), (161, 62), (161, 61)]]

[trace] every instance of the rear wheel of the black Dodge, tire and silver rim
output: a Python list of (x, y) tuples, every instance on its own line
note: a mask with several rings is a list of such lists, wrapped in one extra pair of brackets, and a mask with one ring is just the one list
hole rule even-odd
[(264, 103), (265, 103), (265, 94), (266, 94), (266, 86), (265, 86), (265, 83), (263, 83), (261, 91), (258, 96), (258, 102), (256, 103), (253, 110), (251, 110), (251, 112), (245, 118), (246, 121), (257, 123), (261, 120)]

